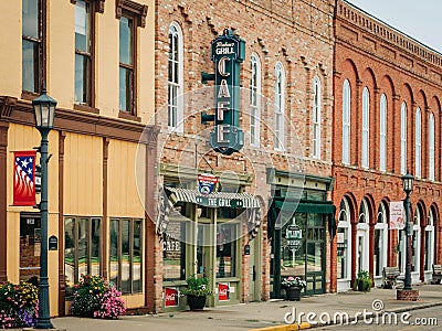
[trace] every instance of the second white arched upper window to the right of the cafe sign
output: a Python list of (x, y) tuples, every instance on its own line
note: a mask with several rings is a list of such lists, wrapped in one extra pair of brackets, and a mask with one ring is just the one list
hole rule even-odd
[(275, 66), (275, 141), (274, 147), (277, 150), (284, 149), (284, 99), (285, 99), (285, 74), (284, 67), (278, 62)]

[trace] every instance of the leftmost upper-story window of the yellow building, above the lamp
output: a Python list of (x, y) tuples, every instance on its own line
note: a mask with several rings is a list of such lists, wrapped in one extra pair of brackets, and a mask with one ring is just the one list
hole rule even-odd
[(44, 81), (43, 0), (22, 0), (22, 90), (40, 93)]

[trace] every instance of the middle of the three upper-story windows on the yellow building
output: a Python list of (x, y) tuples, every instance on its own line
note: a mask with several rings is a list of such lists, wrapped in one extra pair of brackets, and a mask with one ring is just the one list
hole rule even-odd
[(91, 106), (92, 81), (92, 18), (91, 3), (75, 3), (75, 104)]

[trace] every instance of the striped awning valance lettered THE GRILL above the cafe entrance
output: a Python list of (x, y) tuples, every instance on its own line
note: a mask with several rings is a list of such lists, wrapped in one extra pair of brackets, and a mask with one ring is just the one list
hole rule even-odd
[(259, 209), (260, 202), (249, 193), (213, 192), (203, 195), (196, 190), (166, 188), (169, 199), (177, 202), (190, 202), (207, 207)]

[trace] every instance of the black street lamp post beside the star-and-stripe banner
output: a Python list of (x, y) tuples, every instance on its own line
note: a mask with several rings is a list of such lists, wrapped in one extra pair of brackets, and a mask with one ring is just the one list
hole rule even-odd
[(53, 128), (56, 100), (43, 93), (32, 100), (35, 117), (35, 128), (41, 134), (40, 166), (41, 166), (41, 254), (40, 254), (40, 282), (39, 282), (39, 318), (35, 329), (53, 329), (49, 302), (48, 277), (48, 136)]

